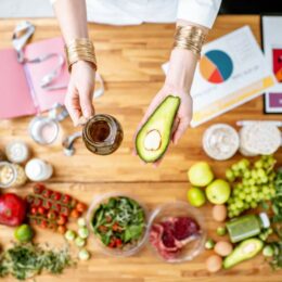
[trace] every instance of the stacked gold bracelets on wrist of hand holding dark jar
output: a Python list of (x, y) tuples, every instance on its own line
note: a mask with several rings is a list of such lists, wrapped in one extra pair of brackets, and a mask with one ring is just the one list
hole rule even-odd
[(92, 63), (97, 70), (97, 60), (94, 46), (88, 38), (73, 39), (65, 46), (68, 70), (72, 70), (72, 65), (78, 61)]

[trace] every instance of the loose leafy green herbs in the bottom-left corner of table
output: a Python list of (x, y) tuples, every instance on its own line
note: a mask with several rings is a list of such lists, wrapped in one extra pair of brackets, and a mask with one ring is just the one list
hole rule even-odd
[(12, 274), (25, 280), (42, 270), (59, 274), (70, 265), (73, 261), (66, 248), (55, 252), (34, 244), (14, 245), (0, 255), (0, 278)]

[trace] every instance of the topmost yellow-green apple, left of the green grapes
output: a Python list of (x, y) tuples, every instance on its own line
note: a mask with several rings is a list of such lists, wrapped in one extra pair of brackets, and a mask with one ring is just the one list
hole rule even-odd
[(214, 174), (206, 162), (198, 162), (188, 170), (188, 179), (192, 185), (206, 187), (213, 181)]

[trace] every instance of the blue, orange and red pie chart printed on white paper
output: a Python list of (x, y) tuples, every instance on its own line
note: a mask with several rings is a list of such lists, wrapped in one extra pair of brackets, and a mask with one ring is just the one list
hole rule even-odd
[(211, 50), (202, 56), (200, 72), (208, 82), (222, 84), (232, 75), (233, 62), (226, 52)]

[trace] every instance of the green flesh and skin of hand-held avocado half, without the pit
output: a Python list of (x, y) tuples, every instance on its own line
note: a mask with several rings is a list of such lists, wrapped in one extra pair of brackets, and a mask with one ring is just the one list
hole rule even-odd
[[(180, 98), (168, 95), (139, 130), (136, 138), (136, 149), (138, 155), (144, 162), (156, 162), (166, 152), (179, 105)], [(144, 145), (145, 138), (152, 130), (157, 130), (161, 134), (161, 143), (157, 150), (148, 150)]]

